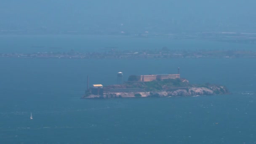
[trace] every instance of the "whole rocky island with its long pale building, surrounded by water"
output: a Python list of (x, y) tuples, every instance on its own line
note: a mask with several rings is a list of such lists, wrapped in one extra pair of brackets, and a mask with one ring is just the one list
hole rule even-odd
[[(121, 73), (120, 73), (121, 74)], [(177, 78), (176, 78), (177, 77)], [(216, 84), (189, 84), (189, 81), (175, 75), (131, 75), (120, 85), (93, 85), (85, 92), (83, 99), (203, 96), (229, 94), (227, 87)]]

